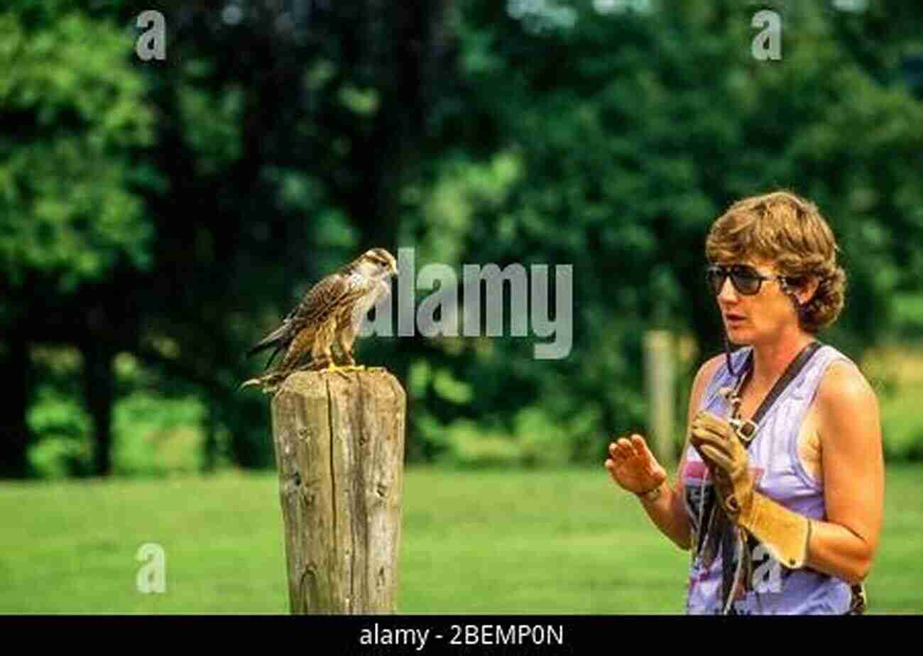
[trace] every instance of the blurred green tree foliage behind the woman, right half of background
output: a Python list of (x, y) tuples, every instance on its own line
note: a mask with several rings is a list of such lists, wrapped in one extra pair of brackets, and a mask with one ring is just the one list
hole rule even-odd
[[(493, 160), (443, 161), (431, 193), (448, 187), (452, 202), (421, 203), (423, 243), (451, 244), (457, 261), (573, 263), (576, 344), (559, 363), (530, 361), (513, 340), (472, 348), (453, 374), (473, 383), (473, 402), (451, 411), (426, 397), (440, 422), (502, 417), (514, 432), (517, 409), (537, 405), (574, 458), (602, 456), (607, 432), (645, 423), (645, 328), (691, 332), (696, 366), (720, 350), (705, 234), (731, 202), (773, 188), (814, 199), (841, 241), (848, 307), (823, 339), (858, 359), (893, 329), (893, 294), (918, 292), (923, 273), (923, 110), (898, 76), (920, 19), (902, 14), (916, 28), (892, 26), (897, 41), (871, 56), (849, 36), (881, 27), (879, 13), (777, 5), (779, 62), (750, 54), (762, 6), (485, 1), (460, 12), (481, 128), (466, 152)], [(588, 419), (581, 435), (574, 417)]]

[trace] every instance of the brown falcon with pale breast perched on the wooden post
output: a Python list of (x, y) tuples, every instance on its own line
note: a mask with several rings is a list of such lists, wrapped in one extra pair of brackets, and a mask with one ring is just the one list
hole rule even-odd
[(302, 368), (309, 371), (365, 368), (355, 364), (354, 341), (366, 314), (378, 299), (390, 292), (390, 278), (397, 273), (394, 256), (384, 248), (372, 248), (320, 280), (282, 319), (282, 326), (246, 353), (249, 357), (273, 349), (267, 368), (280, 353), (282, 361), (274, 371), (247, 380), (241, 388), (258, 385), (271, 391), (298, 369), (306, 357), (309, 360)]

